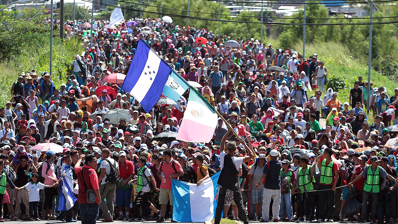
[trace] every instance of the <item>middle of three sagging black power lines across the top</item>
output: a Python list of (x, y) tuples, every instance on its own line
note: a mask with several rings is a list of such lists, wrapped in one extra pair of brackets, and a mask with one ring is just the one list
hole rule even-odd
[[(121, 0), (113, 0), (115, 2), (124, 2)], [(315, 1), (314, 1), (315, 2)], [(173, 8), (166, 8), (166, 7), (159, 7), (159, 6), (152, 6), (152, 5), (147, 5), (147, 4), (140, 4), (137, 2), (128, 2), (131, 4), (137, 4), (140, 6), (149, 6), (149, 7), (154, 7), (154, 8), (162, 8), (162, 9), (168, 9), (168, 10), (175, 10), (175, 11), (180, 11), (180, 12), (189, 12), (189, 13), (201, 13), (201, 14), (209, 14), (209, 15), (216, 15), (216, 16), (236, 16), (236, 17), (246, 17), (246, 18), (256, 18), (256, 19), (261, 19), (261, 16), (243, 16), (243, 15), (230, 15), (230, 14), (218, 14), (218, 13), (211, 13), (211, 12), (195, 12), (195, 11), (188, 11), (188, 10), (181, 10), (181, 9), (173, 9)], [(322, 6), (320, 4), (320, 6)], [(323, 7), (323, 6), (322, 6)], [(282, 18), (282, 17), (268, 17), (268, 16), (263, 16), (265, 19), (287, 19), (287, 20), (302, 20), (304, 18)], [(388, 16), (388, 17), (373, 17), (373, 19), (384, 19), (384, 18), (398, 18), (398, 16)], [(306, 20), (351, 20), (351, 19), (370, 19), (370, 17), (353, 17), (353, 18), (306, 18)]]

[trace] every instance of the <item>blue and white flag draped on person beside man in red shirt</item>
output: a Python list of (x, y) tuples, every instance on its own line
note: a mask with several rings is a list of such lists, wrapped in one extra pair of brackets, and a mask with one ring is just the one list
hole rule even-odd
[(59, 190), (59, 211), (66, 211), (72, 208), (77, 198), (73, 194), (73, 168), (66, 163), (62, 164), (61, 172), (65, 173), (65, 177), (62, 177), (60, 190)]

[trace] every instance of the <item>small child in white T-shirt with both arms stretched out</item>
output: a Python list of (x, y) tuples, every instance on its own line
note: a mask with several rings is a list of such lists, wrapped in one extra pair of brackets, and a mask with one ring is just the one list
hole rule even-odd
[[(29, 183), (27, 183), (23, 187), (16, 187), (15, 189), (17, 191), (25, 189), (26, 191), (29, 190), (29, 213), (30, 213), (30, 219), (29, 221), (40, 221), (39, 219), (39, 191), (43, 190), (45, 187), (54, 187), (55, 184), (53, 185), (44, 185), (38, 181), (39, 175), (37, 173), (32, 173), (32, 178)], [(33, 217), (35, 217), (33, 219)]]

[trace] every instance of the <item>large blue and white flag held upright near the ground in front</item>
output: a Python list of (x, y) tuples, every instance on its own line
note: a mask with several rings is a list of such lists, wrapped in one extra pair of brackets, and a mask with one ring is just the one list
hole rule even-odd
[(220, 172), (203, 181), (199, 187), (172, 179), (173, 220), (204, 222), (215, 216)]

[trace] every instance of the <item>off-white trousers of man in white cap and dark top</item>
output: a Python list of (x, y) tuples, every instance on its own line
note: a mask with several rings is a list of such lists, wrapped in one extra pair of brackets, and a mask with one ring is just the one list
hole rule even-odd
[(279, 219), (279, 205), (281, 204), (281, 189), (271, 190), (264, 188), (263, 191), (263, 220), (269, 220), (269, 204), (271, 204), (271, 198), (273, 199), (272, 203), (272, 215), (273, 219)]

